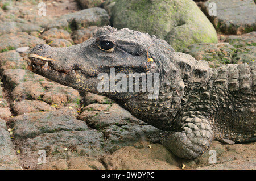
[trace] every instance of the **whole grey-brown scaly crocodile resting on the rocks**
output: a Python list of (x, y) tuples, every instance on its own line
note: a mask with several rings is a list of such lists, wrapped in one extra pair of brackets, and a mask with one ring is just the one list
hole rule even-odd
[[(98, 75), (110, 75), (112, 69), (114, 75), (157, 73), (158, 80), (151, 77), (151, 81), (158, 82), (158, 96), (150, 98), (151, 93), (142, 89), (98, 91), (102, 81)], [(28, 53), (28, 70), (115, 100), (134, 117), (158, 128), (160, 132), (150, 140), (180, 158), (199, 157), (213, 140), (256, 141), (255, 61), (213, 69), (205, 60), (175, 52), (154, 35), (104, 26), (94, 37), (71, 47), (36, 45)]]

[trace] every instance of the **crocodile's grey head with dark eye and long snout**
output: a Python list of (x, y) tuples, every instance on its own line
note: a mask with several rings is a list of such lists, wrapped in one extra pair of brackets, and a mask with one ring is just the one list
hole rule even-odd
[[(115, 75), (159, 73), (160, 79), (163, 79), (170, 74), (170, 66), (173, 65), (170, 59), (172, 52), (173, 49), (166, 41), (155, 36), (127, 28), (117, 31), (105, 26), (93, 38), (71, 47), (36, 45), (28, 53), (28, 70), (78, 90), (112, 99), (128, 99), (140, 92), (100, 92), (98, 85), (102, 77), (99, 78), (98, 75), (105, 73), (109, 82), (112, 70)], [(147, 62), (147, 58), (154, 61)]]

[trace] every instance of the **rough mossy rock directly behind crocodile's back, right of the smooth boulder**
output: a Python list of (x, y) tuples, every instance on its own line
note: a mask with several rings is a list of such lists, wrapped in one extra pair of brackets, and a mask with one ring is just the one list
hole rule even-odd
[(196, 60), (206, 60), (212, 68), (225, 64), (242, 64), (256, 60), (256, 32), (228, 36), (217, 44), (192, 44), (183, 49)]

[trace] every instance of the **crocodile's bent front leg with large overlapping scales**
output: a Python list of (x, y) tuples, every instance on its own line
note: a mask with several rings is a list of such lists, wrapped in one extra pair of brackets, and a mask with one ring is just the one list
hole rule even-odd
[(194, 159), (210, 147), (213, 131), (203, 116), (188, 117), (181, 123), (180, 132), (166, 132), (162, 141), (166, 148), (180, 158)]

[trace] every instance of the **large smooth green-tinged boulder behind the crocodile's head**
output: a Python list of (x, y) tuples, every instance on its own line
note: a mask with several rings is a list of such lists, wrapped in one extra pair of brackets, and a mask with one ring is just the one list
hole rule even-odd
[(212, 23), (192, 0), (118, 0), (111, 20), (115, 28), (156, 35), (176, 50), (194, 43), (217, 43)]

